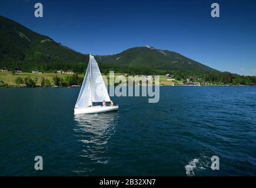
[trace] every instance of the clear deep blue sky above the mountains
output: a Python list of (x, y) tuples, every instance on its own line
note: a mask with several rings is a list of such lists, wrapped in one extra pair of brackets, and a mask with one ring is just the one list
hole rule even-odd
[[(36, 2), (44, 18), (35, 18)], [(213, 2), (220, 4), (220, 18), (211, 17)], [(254, 0), (0, 0), (0, 15), (82, 53), (149, 45), (221, 71), (256, 75)]]

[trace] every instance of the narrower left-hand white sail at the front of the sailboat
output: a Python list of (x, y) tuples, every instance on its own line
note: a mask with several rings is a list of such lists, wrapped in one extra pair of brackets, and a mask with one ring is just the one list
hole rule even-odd
[(90, 63), (88, 63), (87, 72), (85, 73), (84, 81), (82, 82), (75, 108), (85, 108), (92, 105), (89, 65)]

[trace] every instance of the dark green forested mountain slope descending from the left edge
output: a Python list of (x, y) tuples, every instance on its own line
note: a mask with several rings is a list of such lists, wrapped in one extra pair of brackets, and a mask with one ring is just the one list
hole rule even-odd
[(88, 55), (55, 42), (48, 36), (40, 35), (11, 19), (0, 16), (0, 67), (21, 66), (71, 68), (83, 66)]

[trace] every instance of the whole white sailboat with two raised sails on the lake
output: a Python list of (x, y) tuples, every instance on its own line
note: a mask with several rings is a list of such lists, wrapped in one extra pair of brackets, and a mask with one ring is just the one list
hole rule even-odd
[(84, 81), (82, 82), (74, 114), (101, 113), (118, 110), (118, 106), (97, 106), (95, 103), (111, 102), (108, 90), (101, 76), (99, 66), (94, 56), (89, 54), (89, 63)]

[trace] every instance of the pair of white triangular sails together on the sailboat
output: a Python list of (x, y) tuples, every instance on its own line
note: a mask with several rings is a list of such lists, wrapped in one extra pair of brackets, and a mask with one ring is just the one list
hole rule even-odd
[(109, 102), (110, 98), (104, 80), (99, 71), (99, 66), (94, 56), (89, 55), (89, 63), (84, 81), (78, 95), (75, 108), (92, 106), (92, 102)]

